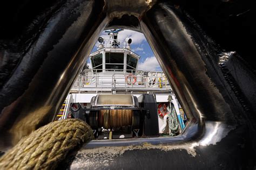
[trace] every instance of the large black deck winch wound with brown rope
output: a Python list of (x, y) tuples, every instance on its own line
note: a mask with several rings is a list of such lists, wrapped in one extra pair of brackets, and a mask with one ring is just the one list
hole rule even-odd
[(96, 139), (158, 136), (157, 103), (154, 95), (138, 101), (132, 94), (98, 94), (90, 105), (71, 105), (72, 117), (86, 121)]

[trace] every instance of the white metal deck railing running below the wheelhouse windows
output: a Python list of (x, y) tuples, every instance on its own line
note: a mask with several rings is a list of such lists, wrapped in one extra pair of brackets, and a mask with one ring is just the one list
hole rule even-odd
[(171, 90), (163, 72), (143, 70), (85, 69), (71, 91)]

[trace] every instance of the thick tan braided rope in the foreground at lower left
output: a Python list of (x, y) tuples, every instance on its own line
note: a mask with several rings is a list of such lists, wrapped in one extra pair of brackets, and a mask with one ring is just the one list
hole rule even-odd
[(55, 169), (74, 147), (93, 138), (79, 119), (49, 123), (24, 137), (0, 158), (0, 169)]

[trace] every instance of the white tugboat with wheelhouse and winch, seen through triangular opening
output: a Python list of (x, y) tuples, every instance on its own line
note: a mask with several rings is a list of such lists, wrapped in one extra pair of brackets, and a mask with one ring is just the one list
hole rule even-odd
[(138, 70), (140, 56), (123, 29), (105, 31), (78, 75), (56, 120), (79, 118), (95, 139), (177, 136), (186, 115), (163, 72)]

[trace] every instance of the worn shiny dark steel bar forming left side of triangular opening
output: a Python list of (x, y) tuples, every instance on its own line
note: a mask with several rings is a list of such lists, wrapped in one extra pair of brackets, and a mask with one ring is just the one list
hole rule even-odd
[[(0, 145), (16, 144), (53, 120), (108, 23), (103, 8), (94, 1), (60, 1), (32, 20), (18, 42), (21, 59), (1, 88)], [(8, 58), (11, 49), (1, 55)]]

